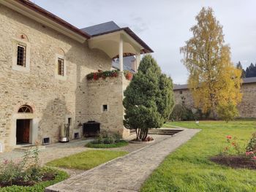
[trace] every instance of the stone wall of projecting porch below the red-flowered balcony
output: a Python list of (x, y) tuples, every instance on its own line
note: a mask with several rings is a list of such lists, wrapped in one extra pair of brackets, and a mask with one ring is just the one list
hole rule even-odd
[[(101, 123), (101, 130), (118, 132), (123, 137), (129, 136), (129, 130), (124, 128), (123, 92), (129, 81), (122, 73), (118, 77), (88, 80), (88, 120)], [(103, 111), (103, 105), (108, 111)]]

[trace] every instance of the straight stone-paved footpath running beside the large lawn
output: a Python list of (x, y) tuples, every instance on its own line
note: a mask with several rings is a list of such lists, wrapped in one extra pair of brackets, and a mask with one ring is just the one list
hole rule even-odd
[(173, 137), (165, 137), (162, 141), (153, 142), (140, 150), (51, 185), (45, 191), (139, 191), (164, 158), (199, 131), (200, 129), (185, 129)]

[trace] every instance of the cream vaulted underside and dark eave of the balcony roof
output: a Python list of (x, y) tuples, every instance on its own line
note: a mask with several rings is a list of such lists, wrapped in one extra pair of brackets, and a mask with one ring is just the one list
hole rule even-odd
[(129, 28), (120, 28), (103, 34), (94, 35), (89, 39), (89, 47), (91, 49), (97, 48), (104, 51), (110, 58), (117, 58), (121, 38), (124, 42), (124, 56), (153, 53), (153, 50), (151, 50), (151, 48)]

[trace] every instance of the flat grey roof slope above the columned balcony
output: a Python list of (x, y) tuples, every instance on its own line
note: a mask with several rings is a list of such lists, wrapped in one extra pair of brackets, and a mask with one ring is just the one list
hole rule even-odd
[(81, 28), (80, 30), (83, 32), (86, 32), (86, 34), (89, 34), (91, 36), (97, 35), (97, 34), (104, 34), (108, 31), (114, 31), (118, 30), (120, 27), (113, 22), (112, 20), (106, 23), (101, 23), (95, 26), (89, 26), (86, 28)]

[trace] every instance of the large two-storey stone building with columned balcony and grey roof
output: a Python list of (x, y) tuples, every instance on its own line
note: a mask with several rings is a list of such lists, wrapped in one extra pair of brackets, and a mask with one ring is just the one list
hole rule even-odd
[[(78, 29), (31, 1), (0, 0), (0, 41), (0, 152), (58, 142), (65, 123), (71, 138), (89, 120), (129, 135), (123, 57), (139, 64), (140, 54), (153, 52), (131, 29), (113, 22)], [(113, 58), (118, 77), (86, 80), (110, 70)]]

